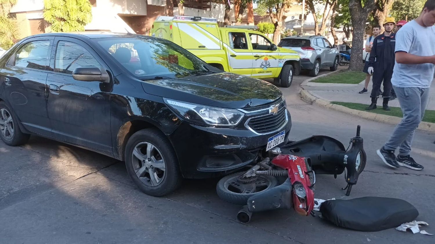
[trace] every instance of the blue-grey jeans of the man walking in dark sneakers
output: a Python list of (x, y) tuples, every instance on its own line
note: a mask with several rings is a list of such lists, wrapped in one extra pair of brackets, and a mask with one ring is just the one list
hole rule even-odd
[(415, 129), (425, 115), (429, 101), (429, 88), (394, 86), (394, 91), (399, 100), (403, 118), (394, 129), (388, 142), (385, 143), (384, 148), (394, 151), (399, 147), (399, 155), (406, 156), (411, 153)]

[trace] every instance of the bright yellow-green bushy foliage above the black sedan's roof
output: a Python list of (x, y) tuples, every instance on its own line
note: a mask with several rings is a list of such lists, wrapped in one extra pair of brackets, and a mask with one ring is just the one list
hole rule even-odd
[(54, 32), (84, 31), (92, 20), (89, 0), (44, 0), (44, 19)]

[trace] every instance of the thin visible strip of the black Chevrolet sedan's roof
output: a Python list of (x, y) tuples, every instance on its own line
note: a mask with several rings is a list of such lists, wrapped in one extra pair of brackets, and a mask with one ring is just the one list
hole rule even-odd
[(63, 32), (63, 33), (42, 33), (37, 34), (30, 37), (39, 37), (39, 36), (64, 36), (64, 37), (75, 37), (75, 38), (88, 38), (88, 39), (95, 39), (95, 38), (113, 38), (113, 37), (137, 37), (143, 35), (133, 34), (133, 33), (116, 33), (116, 32), (105, 32), (105, 31), (84, 31), (84, 32)]

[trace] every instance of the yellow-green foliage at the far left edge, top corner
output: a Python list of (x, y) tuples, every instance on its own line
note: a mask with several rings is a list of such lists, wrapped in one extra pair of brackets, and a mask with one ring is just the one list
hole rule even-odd
[(9, 49), (13, 39), (18, 38), (17, 23), (8, 14), (17, 0), (0, 0), (0, 47)]

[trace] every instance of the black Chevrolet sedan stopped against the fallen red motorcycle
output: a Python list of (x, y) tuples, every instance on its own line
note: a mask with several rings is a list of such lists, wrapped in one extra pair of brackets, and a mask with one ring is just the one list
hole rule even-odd
[(274, 85), (150, 36), (30, 36), (0, 59), (0, 80), (4, 143), (35, 134), (123, 160), (154, 196), (255, 163), (291, 128)]

